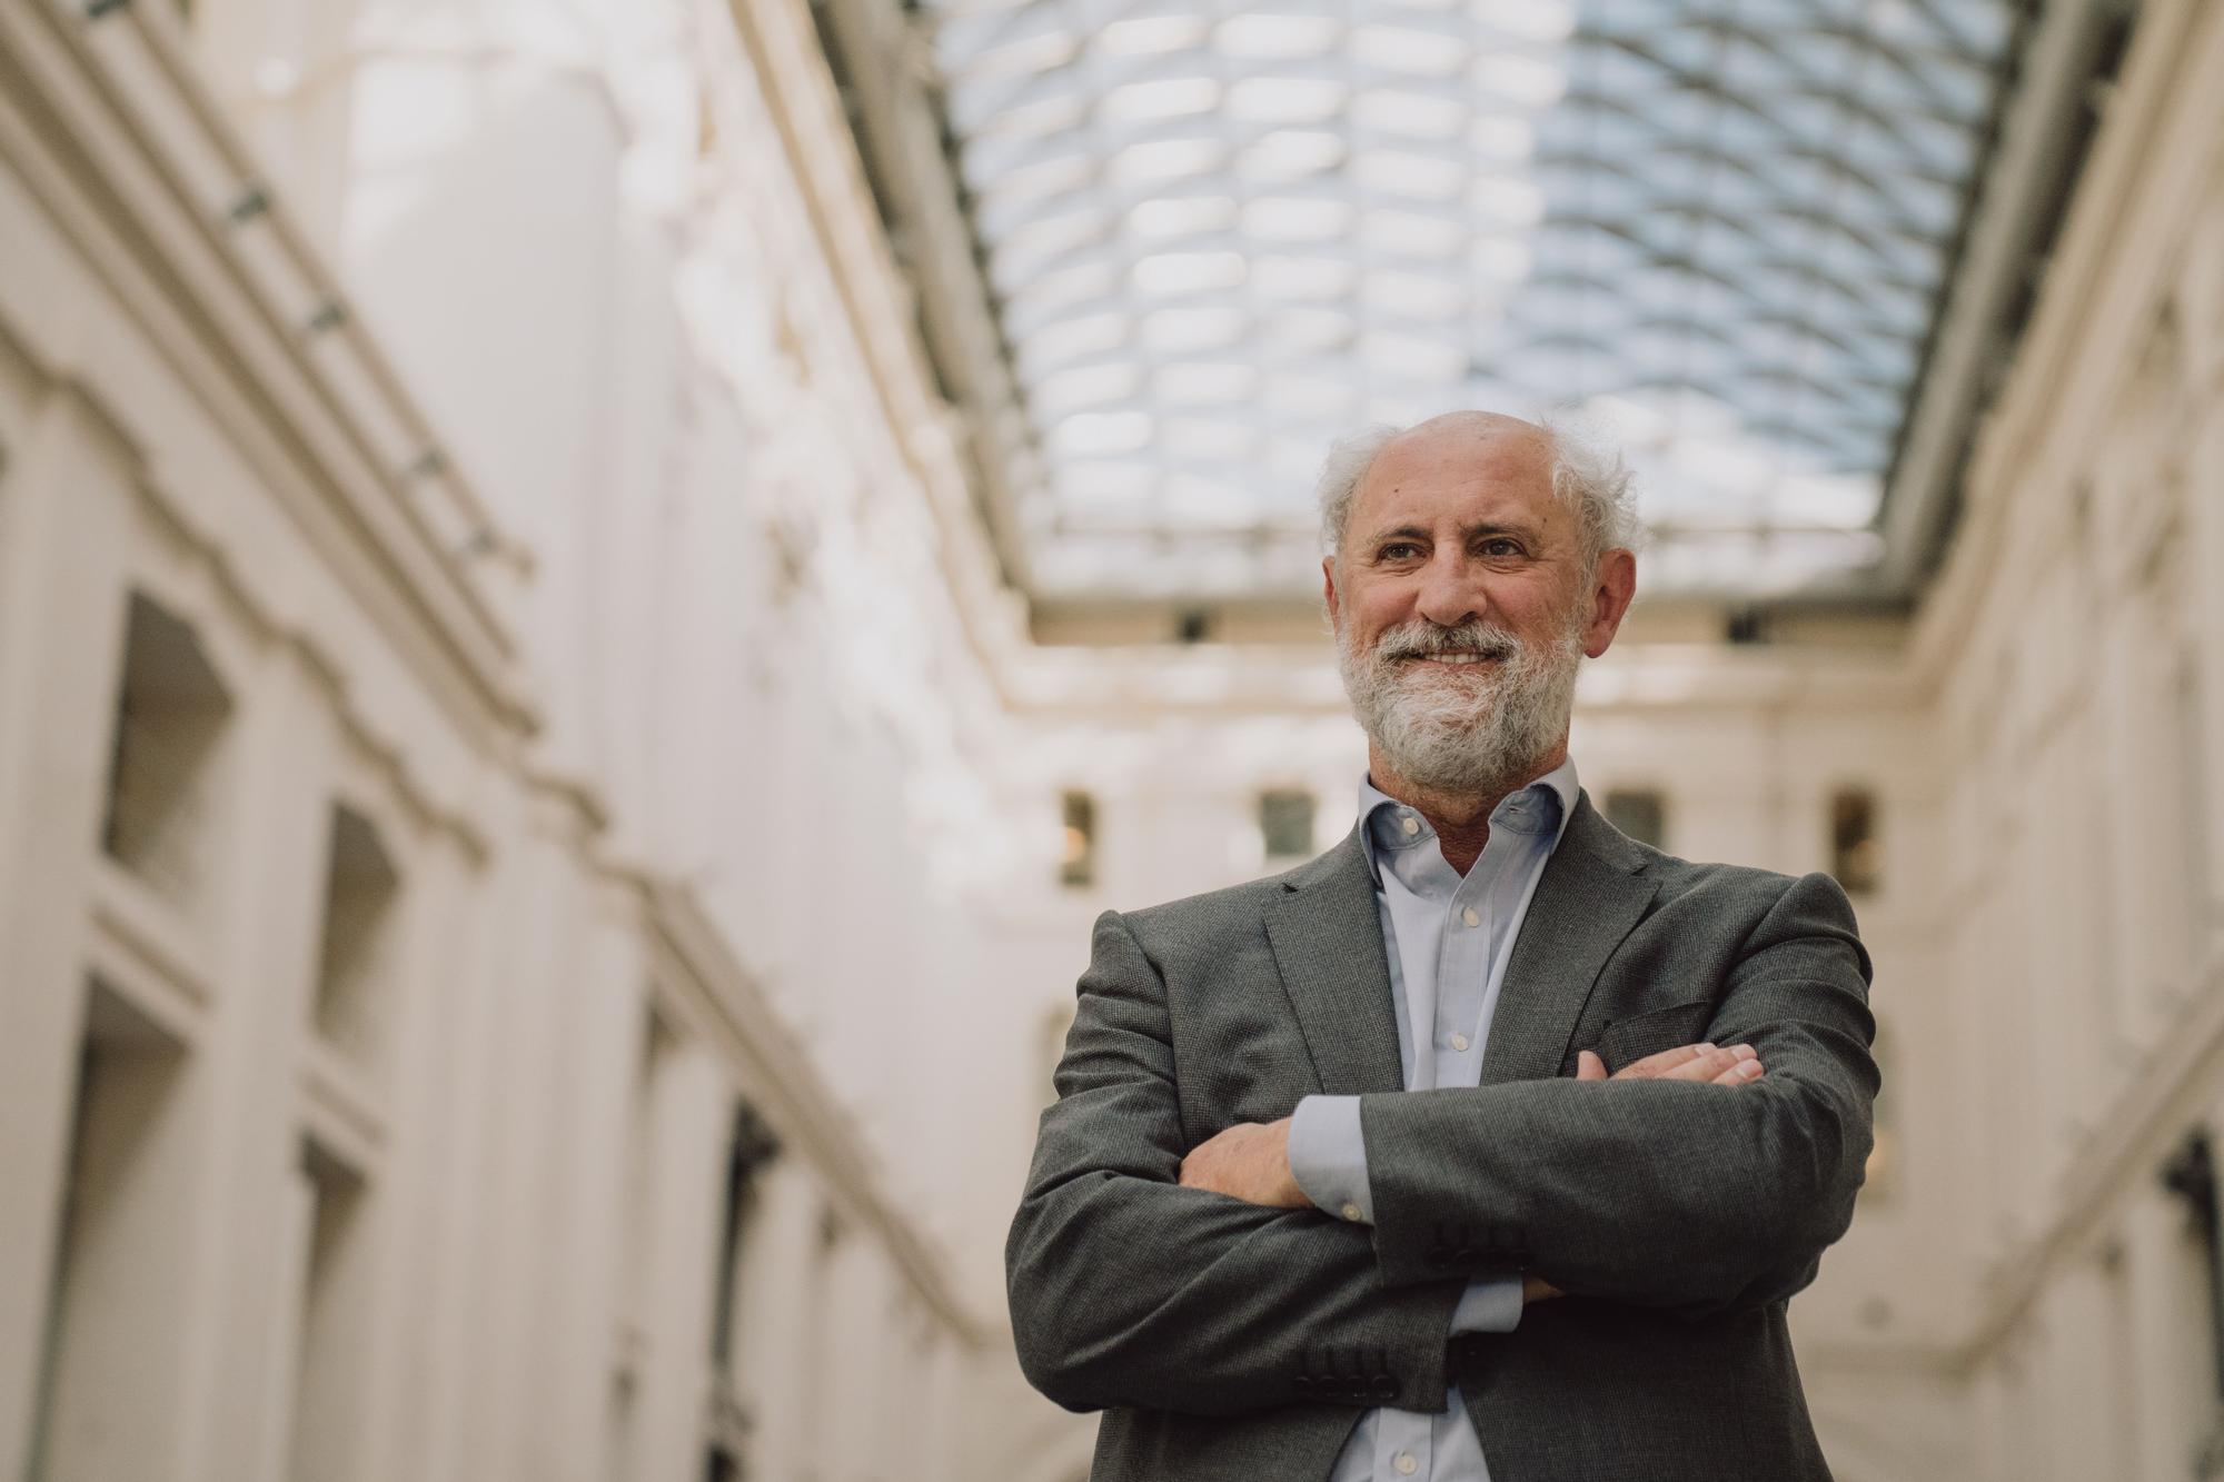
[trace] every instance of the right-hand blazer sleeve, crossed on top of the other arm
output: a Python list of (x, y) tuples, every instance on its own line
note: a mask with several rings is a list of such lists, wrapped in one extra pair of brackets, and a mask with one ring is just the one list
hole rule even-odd
[(1870, 961), (1828, 875), (1748, 932), (1704, 1037), (1748, 1086), (1535, 1079), (1368, 1095), (1374, 1251), (1390, 1284), (1477, 1251), (1566, 1293), (1710, 1315), (1793, 1295), (1846, 1233), (1870, 1148)]

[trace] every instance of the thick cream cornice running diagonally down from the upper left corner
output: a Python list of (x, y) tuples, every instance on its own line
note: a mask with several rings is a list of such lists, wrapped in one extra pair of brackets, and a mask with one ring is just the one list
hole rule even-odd
[[(260, 185), (176, 22), (151, 11), (85, 20), (51, 0), (0, 9), (0, 160), (302, 536), (367, 607), (396, 616), (434, 692), (480, 734), (532, 730), (509, 636), (460, 565), (474, 543), (507, 543)], [(342, 314), (314, 327), (316, 305)], [(111, 421), (136, 423), (78, 363), (96, 345), (58, 340), (51, 325), (38, 343), (38, 329), (16, 334), (49, 378), (80, 383)]]

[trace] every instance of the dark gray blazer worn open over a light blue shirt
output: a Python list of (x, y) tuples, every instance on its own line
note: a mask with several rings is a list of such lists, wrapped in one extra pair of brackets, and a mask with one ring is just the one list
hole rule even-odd
[[(1492, 1482), (1828, 1478), (1784, 1324), (1853, 1219), (1877, 1068), (1828, 875), (1690, 863), (1577, 799), (1481, 1086), (1401, 1090), (1363, 841), (1096, 919), (1005, 1246), (1027, 1380), (1105, 1411), (1096, 1482), (1326, 1478), (1368, 1406), (1459, 1384)], [(1577, 1084), (1697, 1039), (1766, 1077)], [(1308, 1093), (1361, 1095), (1377, 1224), (1176, 1184)], [(1446, 1342), (1475, 1275), (1566, 1297)]]

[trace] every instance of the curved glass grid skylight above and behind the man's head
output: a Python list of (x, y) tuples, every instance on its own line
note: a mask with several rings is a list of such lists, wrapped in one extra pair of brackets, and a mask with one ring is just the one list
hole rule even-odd
[(1041, 596), (1314, 590), (1332, 436), (1588, 405), (1648, 590), (1870, 521), (2015, 0), (923, 0)]

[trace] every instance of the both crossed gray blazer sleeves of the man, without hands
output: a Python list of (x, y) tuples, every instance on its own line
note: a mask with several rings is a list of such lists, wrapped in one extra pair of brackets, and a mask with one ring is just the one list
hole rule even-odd
[(1241, 1413), (1357, 1373), (1366, 1402), (1437, 1411), (1466, 1286), (1426, 1255), (1446, 1224), (1508, 1231), (1528, 1273), (1583, 1297), (1695, 1320), (1788, 1297), (1846, 1231), (1868, 1157), (1866, 988), (1844, 892), (1793, 881), (1708, 1026), (1766, 1079), (1368, 1095), (1361, 1226), (1181, 1186), (1165, 986), (1105, 912), (1005, 1246), (1021, 1369), (1068, 1409)]

